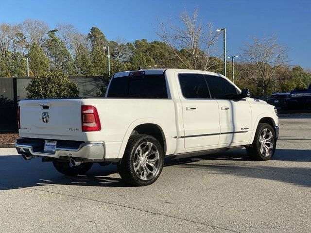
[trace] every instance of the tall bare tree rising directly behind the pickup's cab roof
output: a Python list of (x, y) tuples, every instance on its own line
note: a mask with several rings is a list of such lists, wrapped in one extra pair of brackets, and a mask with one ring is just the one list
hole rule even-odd
[(157, 19), (155, 33), (169, 46), (174, 55), (189, 69), (216, 71), (221, 60), (215, 57), (215, 43), (219, 33), (208, 22), (205, 26), (198, 20), (198, 8), (190, 16), (187, 11), (179, 16), (182, 26)]

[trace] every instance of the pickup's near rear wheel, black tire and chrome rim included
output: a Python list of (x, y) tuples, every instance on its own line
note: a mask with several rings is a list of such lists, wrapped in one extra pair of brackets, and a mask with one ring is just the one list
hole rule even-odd
[(118, 170), (124, 182), (145, 186), (157, 180), (163, 162), (164, 152), (158, 140), (150, 135), (136, 134), (130, 136)]

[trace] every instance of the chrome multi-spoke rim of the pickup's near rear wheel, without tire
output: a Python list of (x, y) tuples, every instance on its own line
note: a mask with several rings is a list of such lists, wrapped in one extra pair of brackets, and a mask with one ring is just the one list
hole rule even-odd
[(139, 179), (152, 179), (159, 169), (160, 155), (155, 144), (141, 143), (135, 151), (133, 166)]

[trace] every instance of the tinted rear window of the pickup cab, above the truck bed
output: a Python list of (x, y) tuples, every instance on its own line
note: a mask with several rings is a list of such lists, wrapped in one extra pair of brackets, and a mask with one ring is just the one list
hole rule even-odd
[(167, 99), (165, 76), (160, 74), (113, 78), (107, 97)]

